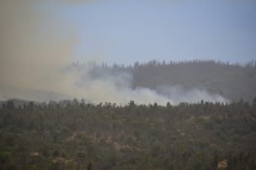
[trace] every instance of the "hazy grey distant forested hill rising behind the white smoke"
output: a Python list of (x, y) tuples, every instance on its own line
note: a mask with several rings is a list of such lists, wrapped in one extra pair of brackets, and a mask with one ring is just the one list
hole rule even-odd
[[(96, 79), (104, 75), (132, 75), (132, 87), (145, 87), (156, 90), (157, 93), (168, 95), (161, 89), (163, 86), (179, 85), (186, 90), (207, 90), (211, 94), (219, 94), (231, 101), (253, 100), (256, 96), (256, 62), (245, 64), (229, 64), (216, 60), (189, 61), (157, 61), (144, 64), (136, 62), (133, 65), (108, 66), (108, 64), (93, 65), (91, 76)], [(78, 70), (83, 70), (83, 64), (74, 64)], [(86, 65), (84, 64), (84, 67)]]

